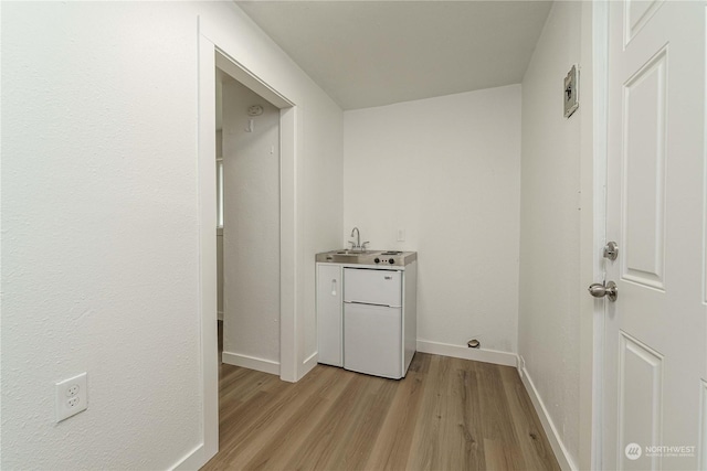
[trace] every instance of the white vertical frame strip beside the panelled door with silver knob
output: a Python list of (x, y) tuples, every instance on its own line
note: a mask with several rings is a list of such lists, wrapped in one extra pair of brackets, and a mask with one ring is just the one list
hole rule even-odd
[[(581, 469), (602, 468), (603, 375), (605, 302), (590, 298), (587, 287), (605, 278), (603, 247), (606, 244), (606, 183), (608, 183), (608, 90), (609, 90), (609, 2), (587, 2), (582, 38), (582, 57), (587, 67), (580, 77), (580, 96), (591, 107), (591, 118), (582, 124), (582, 206), (591, 208), (582, 215), (581, 243), (581, 387), (580, 394), (580, 456)], [(591, 24), (588, 22), (591, 21)], [(584, 28), (583, 28), (584, 29)], [(589, 77), (588, 77), (589, 76)], [(581, 106), (581, 105), (580, 105)], [(591, 255), (589, 255), (591, 254)], [(589, 258), (591, 256), (591, 258)]]

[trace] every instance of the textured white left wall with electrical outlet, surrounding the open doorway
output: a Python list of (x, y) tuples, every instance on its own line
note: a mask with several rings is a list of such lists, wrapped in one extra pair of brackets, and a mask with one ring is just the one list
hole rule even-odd
[[(297, 263), (340, 242), (341, 111), (238, 7), (3, 2), (2, 469), (168, 469), (202, 441), (198, 15), (298, 106)], [(55, 424), (84, 371), (88, 410)]]

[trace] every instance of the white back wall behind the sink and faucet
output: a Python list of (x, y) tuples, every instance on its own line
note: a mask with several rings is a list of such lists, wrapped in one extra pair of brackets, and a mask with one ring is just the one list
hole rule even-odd
[(342, 242), (419, 251), (420, 341), (516, 352), (520, 86), (344, 116)]

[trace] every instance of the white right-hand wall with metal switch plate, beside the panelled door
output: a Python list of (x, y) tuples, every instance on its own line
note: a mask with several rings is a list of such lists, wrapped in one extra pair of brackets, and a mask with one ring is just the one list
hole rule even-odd
[[(585, 133), (592, 116), (591, 79), (580, 75), (580, 107), (570, 119), (563, 117), (562, 87), (573, 64), (585, 64), (582, 73), (591, 67), (591, 47), (583, 56), (582, 44), (588, 12), (582, 2), (553, 4), (523, 82), (518, 350), (535, 385), (531, 394), (544, 404), (562, 459), (572, 467), (585, 447), (581, 439), (587, 445), (590, 440), (581, 437), (589, 425), (580, 424), (580, 414), (591, 404), (591, 384), (581, 389), (587, 362), (581, 355), (587, 352), (580, 349), (581, 317), (591, 319), (585, 292), (592, 257), (591, 139), (588, 143)], [(589, 130), (591, 136), (591, 126)], [(589, 338), (591, 342), (591, 333)], [(591, 360), (589, 364), (591, 370)]]

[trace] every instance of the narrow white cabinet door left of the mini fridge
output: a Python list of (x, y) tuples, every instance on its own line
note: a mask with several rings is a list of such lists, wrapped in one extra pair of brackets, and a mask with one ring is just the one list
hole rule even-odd
[(341, 266), (317, 264), (319, 363), (344, 366)]

